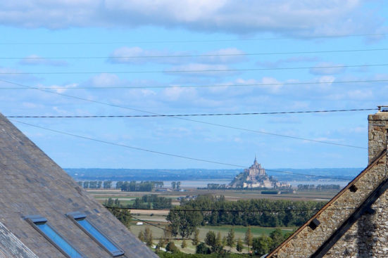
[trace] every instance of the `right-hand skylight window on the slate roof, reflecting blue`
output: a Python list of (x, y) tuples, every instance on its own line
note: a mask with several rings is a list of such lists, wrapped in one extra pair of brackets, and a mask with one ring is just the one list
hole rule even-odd
[(87, 235), (92, 238), (96, 243), (98, 243), (101, 247), (104, 248), (107, 252), (109, 252), (113, 257), (119, 257), (124, 254), (122, 250), (120, 250), (112, 240), (108, 239), (101, 231), (99, 231), (93, 224), (91, 224), (86, 219), (86, 215), (80, 212), (70, 212), (66, 214), (70, 219), (75, 221), (75, 224), (79, 226), (82, 231), (87, 233)]

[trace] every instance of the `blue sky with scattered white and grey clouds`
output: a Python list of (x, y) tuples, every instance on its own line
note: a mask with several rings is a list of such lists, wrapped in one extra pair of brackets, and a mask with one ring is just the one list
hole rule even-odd
[[(387, 18), (384, 0), (3, 0), (0, 112), (373, 109)], [(375, 112), (10, 119), (65, 168), (327, 168), (367, 165)]]

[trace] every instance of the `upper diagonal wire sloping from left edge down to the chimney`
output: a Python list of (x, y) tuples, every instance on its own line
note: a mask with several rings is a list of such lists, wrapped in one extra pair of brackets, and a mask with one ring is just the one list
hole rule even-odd
[[(15, 83), (15, 82), (10, 82), (10, 81), (4, 80), (4, 79), (0, 79), (0, 82), (6, 82), (8, 84), (14, 84), (14, 85), (18, 85), (18, 86), (23, 86), (23, 87), (26, 87), (26, 88), (29, 88), (29, 89), (31, 88), (30, 86), (27, 86), (27, 85), (24, 85), (24, 84), (18, 84), (18, 83)], [(101, 102), (101, 101), (93, 101), (93, 100), (90, 100), (90, 99), (87, 99), (87, 98), (81, 98), (81, 97), (78, 97), (78, 96), (72, 96), (72, 95), (68, 95), (68, 94), (65, 94), (65, 93), (59, 93), (59, 92), (49, 91), (49, 90), (45, 90), (45, 89), (35, 89), (35, 90), (43, 91), (43, 92), (51, 93), (51, 94), (56, 94), (56, 95), (59, 95), (59, 96), (65, 96), (65, 97), (68, 97), (68, 98), (75, 98), (75, 99), (80, 100), (80, 101), (87, 101), (87, 102), (91, 102), (91, 103), (97, 103), (97, 104), (100, 104), (100, 105), (108, 105), (108, 106), (115, 107), (115, 108), (123, 108), (123, 109), (126, 109), (126, 110), (133, 110), (133, 111), (137, 111), (137, 112), (144, 112), (144, 113), (148, 113), (148, 114), (151, 114), (151, 115), (162, 115), (162, 114), (159, 114), (159, 113), (156, 113), (156, 112), (149, 112), (149, 111), (139, 110), (139, 109), (135, 109), (135, 108), (127, 108), (127, 107), (124, 107), (122, 105), (114, 105), (114, 104), (111, 104), (111, 103), (105, 103), (105, 102)], [(258, 130), (253, 130), (253, 129), (245, 129), (245, 128), (241, 128), (241, 127), (232, 127), (232, 126), (228, 126), (228, 125), (225, 125), (225, 124), (215, 124), (215, 123), (212, 123), (212, 122), (204, 122), (204, 121), (199, 121), (199, 120), (192, 120), (192, 119), (184, 118), (184, 117), (171, 117), (171, 118), (175, 118), (175, 119), (179, 119), (179, 120), (186, 120), (186, 121), (190, 121), (190, 122), (196, 122), (196, 123), (200, 123), (200, 124), (208, 124), (208, 125), (212, 125), (212, 126), (215, 126), (215, 127), (223, 127), (223, 128), (236, 129), (236, 130), (241, 130), (241, 131), (249, 131), (249, 132), (255, 133), (255, 134), (267, 134), (267, 135), (272, 135), (272, 136), (280, 136), (280, 137), (284, 137), (284, 138), (294, 138), (294, 139), (302, 140), (302, 141), (311, 141), (311, 142), (315, 142), (315, 143), (325, 143), (325, 144), (330, 144), (330, 145), (335, 145), (335, 146), (344, 146), (344, 147), (350, 147), (350, 148), (366, 149), (365, 147), (361, 147), (361, 146), (351, 146), (351, 145), (342, 144), (342, 143), (332, 143), (332, 142), (329, 142), (329, 141), (318, 141), (318, 140), (313, 140), (313, 139), (309, 139), (309, 138), (302, 138), (302, 137), (297, 137), (297, 136), (287, 136), (287, 135), (284, 135), (284, 134), (275, 134), (275, 133), (270, 133), (270, 132), (267, 132), (267, 131), (258, 131)]]

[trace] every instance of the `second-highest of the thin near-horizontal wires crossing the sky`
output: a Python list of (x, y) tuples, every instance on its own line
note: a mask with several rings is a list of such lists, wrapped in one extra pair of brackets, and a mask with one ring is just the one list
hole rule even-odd
[(351, 53), (351, 52), (368, 52), (368, 51), (387, 51), (388, 49), (340, 49), (325, 51), (294, 51), (294, 52), (263, 52), (263, 53), (214, 53), (214, 54), (197, 54), (197, 55), (159, 55), (159, 56), (26, 56), (26, 57), (0, 57), (0, 60), (44, 60), (44, 59), (139, 59), (139, 58), (201, 58), (216, 56), (266, 56), (266, 55), (287, 55), (301, 53)]

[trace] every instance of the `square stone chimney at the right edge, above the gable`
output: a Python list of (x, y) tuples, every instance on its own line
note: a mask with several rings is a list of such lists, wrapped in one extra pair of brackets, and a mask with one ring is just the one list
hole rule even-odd
[(388, 137), (388, 106), (379, 105), (375, 115), (369, 115), (368, 129), (368, 165), (387, 149)]

